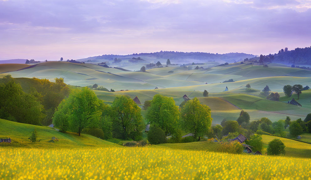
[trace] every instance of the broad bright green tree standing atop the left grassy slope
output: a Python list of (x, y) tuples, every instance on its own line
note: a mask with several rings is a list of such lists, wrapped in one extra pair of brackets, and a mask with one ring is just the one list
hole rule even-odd
[[(54, 113), (53, 120), (66, 121), (67, 118), (70, 129), (79, 136), (84, 128), (98, 127), (98, 120), (102, 115), (101, 101), (91, 89), (76, 89), (62, 103)], [(66, 122), (59, 124), (65, 126)]]

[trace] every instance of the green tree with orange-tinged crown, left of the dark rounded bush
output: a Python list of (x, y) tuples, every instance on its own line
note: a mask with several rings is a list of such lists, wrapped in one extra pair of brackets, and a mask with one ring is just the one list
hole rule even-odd
[(137, 140), (144, 129), (140, 107), (128, 96), (117, 96), (112, 103), (113, 138)]

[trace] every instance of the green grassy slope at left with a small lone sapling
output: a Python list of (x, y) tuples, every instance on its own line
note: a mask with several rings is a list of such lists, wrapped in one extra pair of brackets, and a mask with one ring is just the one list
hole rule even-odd
[[(107, 147), (114, 146), (115, 144), (109, 143), (107, 141), (95, 138), (87, 134), (81, 134), (79, 137), (76, 133), (60, 133), (53, 128), (35, 126), (30, 124), (16, 123), (12, 121), (7, 121), (0, 119), (0, 137), (11, 138), (12, 143), (1, 143), (0, 146), (16, 146), (16, 147), (43, 147), (43, 148), (52, 148), (52, 147), (64, 147), (64, 148), (73, 148), (76, 146), (98, 146), (98, 147)], [(31, 143), (29, 142), (29, 137), (34, 131), (34, 128), (37, 129), (38, 139), (41, 139), (40, 143)], [(52, 137), (59, 139), (58, 142), (48, 143)]]

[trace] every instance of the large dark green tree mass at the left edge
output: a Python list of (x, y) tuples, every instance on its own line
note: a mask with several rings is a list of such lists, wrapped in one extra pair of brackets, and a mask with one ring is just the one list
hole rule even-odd
[(23, 92), (22, 87), (7, 75), (0, 84), (0, 118), (18, 123), (41, 125), (44, 108), (38, 98)]

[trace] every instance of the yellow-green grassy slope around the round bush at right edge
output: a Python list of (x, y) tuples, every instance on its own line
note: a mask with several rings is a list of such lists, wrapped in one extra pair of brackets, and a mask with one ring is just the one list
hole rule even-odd
[(311, 158), (311, 144), (302, 143), (287, 138), (280, 138), (276, 136), (262, 135), (264, 148), (268, 148), (268, 143), (273, 139), (280, 139), (285, 145), (285, 156)]

